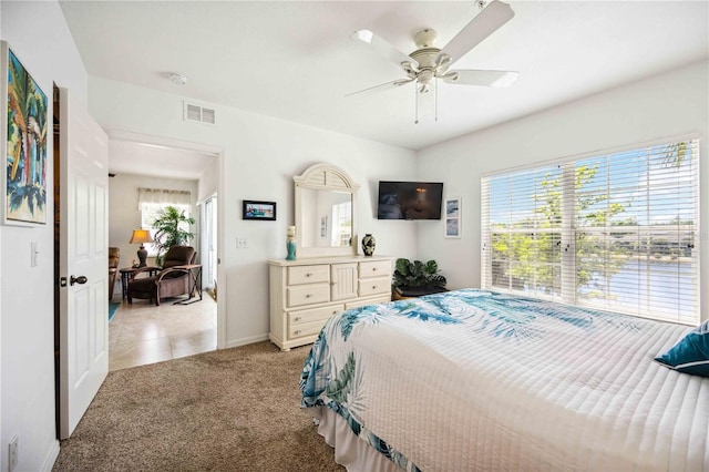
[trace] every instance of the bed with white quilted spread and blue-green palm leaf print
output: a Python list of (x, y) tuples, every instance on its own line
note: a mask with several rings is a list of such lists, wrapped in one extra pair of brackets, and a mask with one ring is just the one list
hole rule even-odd
[(690, 330), (475, 289), (360, 307), (301, 407), (350, 471), (709, 470), (709, 379), (654, 360)]

